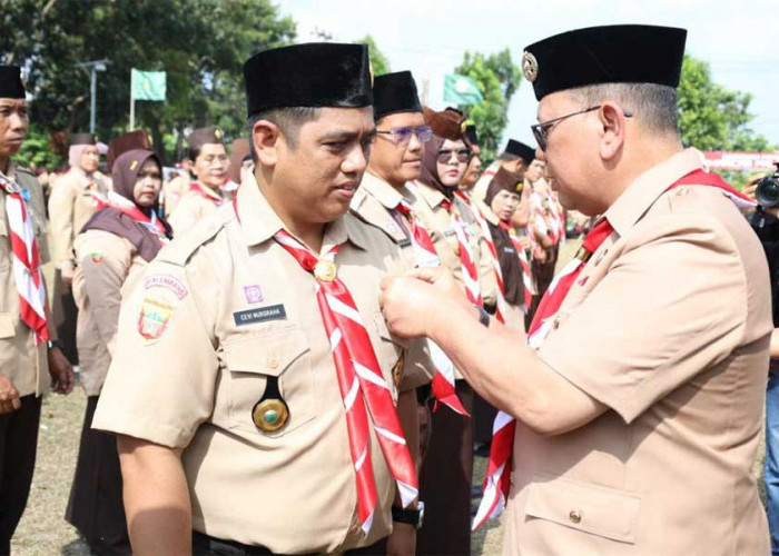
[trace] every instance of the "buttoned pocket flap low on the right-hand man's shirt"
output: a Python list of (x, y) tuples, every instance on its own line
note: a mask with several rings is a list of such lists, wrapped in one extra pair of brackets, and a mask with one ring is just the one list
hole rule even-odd
[(601, 537), (635, 544), (641, 498), (613, 488), (534, 476), (525, 514)]

